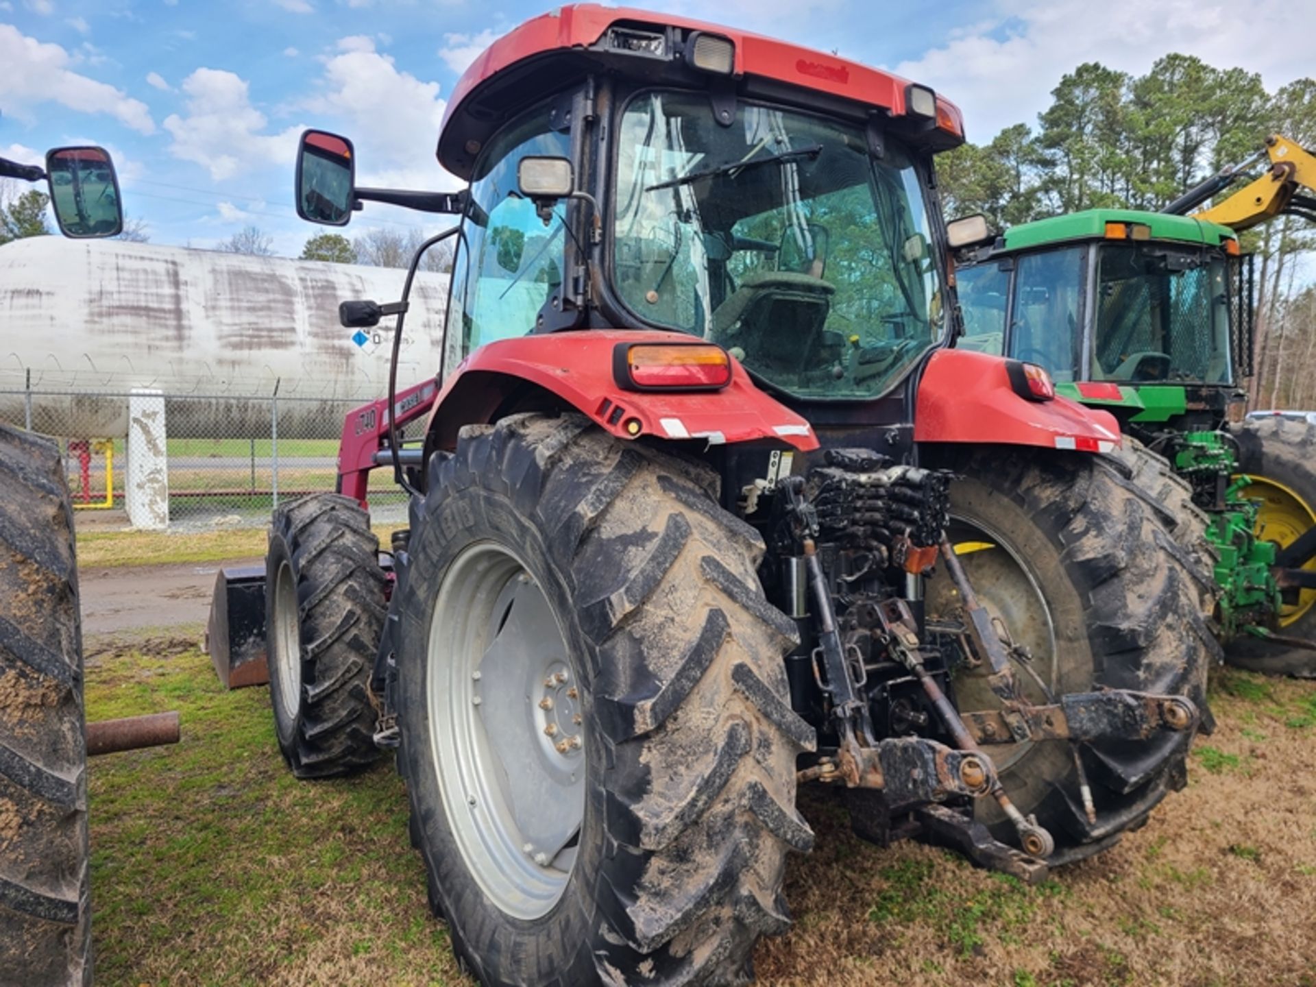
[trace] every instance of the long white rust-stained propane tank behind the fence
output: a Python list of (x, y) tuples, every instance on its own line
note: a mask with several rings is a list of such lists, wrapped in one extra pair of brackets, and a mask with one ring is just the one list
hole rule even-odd
[[(30, 383), (37, 432), (124, 436), (122, 395), (149, 387), (197, 396), (168, 403), (172, 437), (265, 437), (268, 405), (246, 399), (271, 395), (278, 380), (280, 432), (336, 438), (337, 401), (386, 393), (393, 325), (365, 330), (359, 345), (338, 324), (338, 303), (396, 301), (405, 275), (111, 240), (5, 243), (0, 421), (24, 424)], [(399, 387), (440, 372), (447, 275), (417, 275), (411, 301)]]

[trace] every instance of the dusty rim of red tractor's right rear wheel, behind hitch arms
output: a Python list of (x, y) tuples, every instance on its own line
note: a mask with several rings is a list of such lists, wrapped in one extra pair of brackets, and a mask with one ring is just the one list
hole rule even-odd
[[(951, 517), (951, 545), (982, 542), (991, 547), (959, 555), (969, 580), (987, 612), (1000, 617), (1016, 645), (1024, 645), (1033, 655), (1032, 667), (1046, 683), (1051, 694), (1059, 687), (1059, 665), (1055, 661), (1055, 625), (1046, 596), (1032, 570), (1009, 541), (990, 525)], [(957, 553), (958, 554), (958, 553)], [(949, 576), (946, 576), (949, 579)], [(1015, 678), (1024, 695), (1033, 703), (1045, 704), (1045, 696), (1033, 678), (1015, 662)], [(962, 711), (999, 709), (1000, 697), (987, 686), (991, 669), (983, 662), (978, 669), (961, 669), (955, 675), (955, 703)], [(1032, 742), (995, 744), (987, 747), (998, 771), (1017, 763), (1032, 749)]]

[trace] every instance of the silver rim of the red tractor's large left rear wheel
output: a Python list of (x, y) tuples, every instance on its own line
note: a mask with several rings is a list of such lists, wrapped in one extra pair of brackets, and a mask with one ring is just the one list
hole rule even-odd
[(466, 547), (426, 647), (434, 774), (467, 873), (503, 912), (547, 913), (575, 865), (584, 725), (566, 637), (525, 563)]

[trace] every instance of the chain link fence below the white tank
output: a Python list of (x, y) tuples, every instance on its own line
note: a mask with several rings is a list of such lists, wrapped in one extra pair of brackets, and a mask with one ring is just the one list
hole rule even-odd
[[(79, 517), (133, 522), (128, 392), (0, 390), (0, 422), (55, 440)], [(163, 393), (163, 462), (171, 530), (262, 526), (280, 501), (332, 491), (346, 415), (362, 399)], [(158, 400), (158, 399), (157, 399)], [(415, 422), (412, 432), (421, 425)], [(409, 438), (404, 433), (404, 438)], [(151, 443), (157, 449), (158, 443)], [(142, 446), (134, 445), (141, 449)], [(371, 515), (405, 520), (392, 470), (370, 476)]]

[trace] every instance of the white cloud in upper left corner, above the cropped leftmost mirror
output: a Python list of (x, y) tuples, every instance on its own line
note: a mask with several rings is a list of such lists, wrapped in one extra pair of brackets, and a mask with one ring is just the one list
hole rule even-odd
[(155, 132), (150, 109), (122, 89), (70, 71), (72, 57), (59, 45), (29, 38), (11, 24), (0, 24), (0, 103), (20, 120), (29, 109), (58, 103), (80, 113), (107, 113), (138, 133)]

